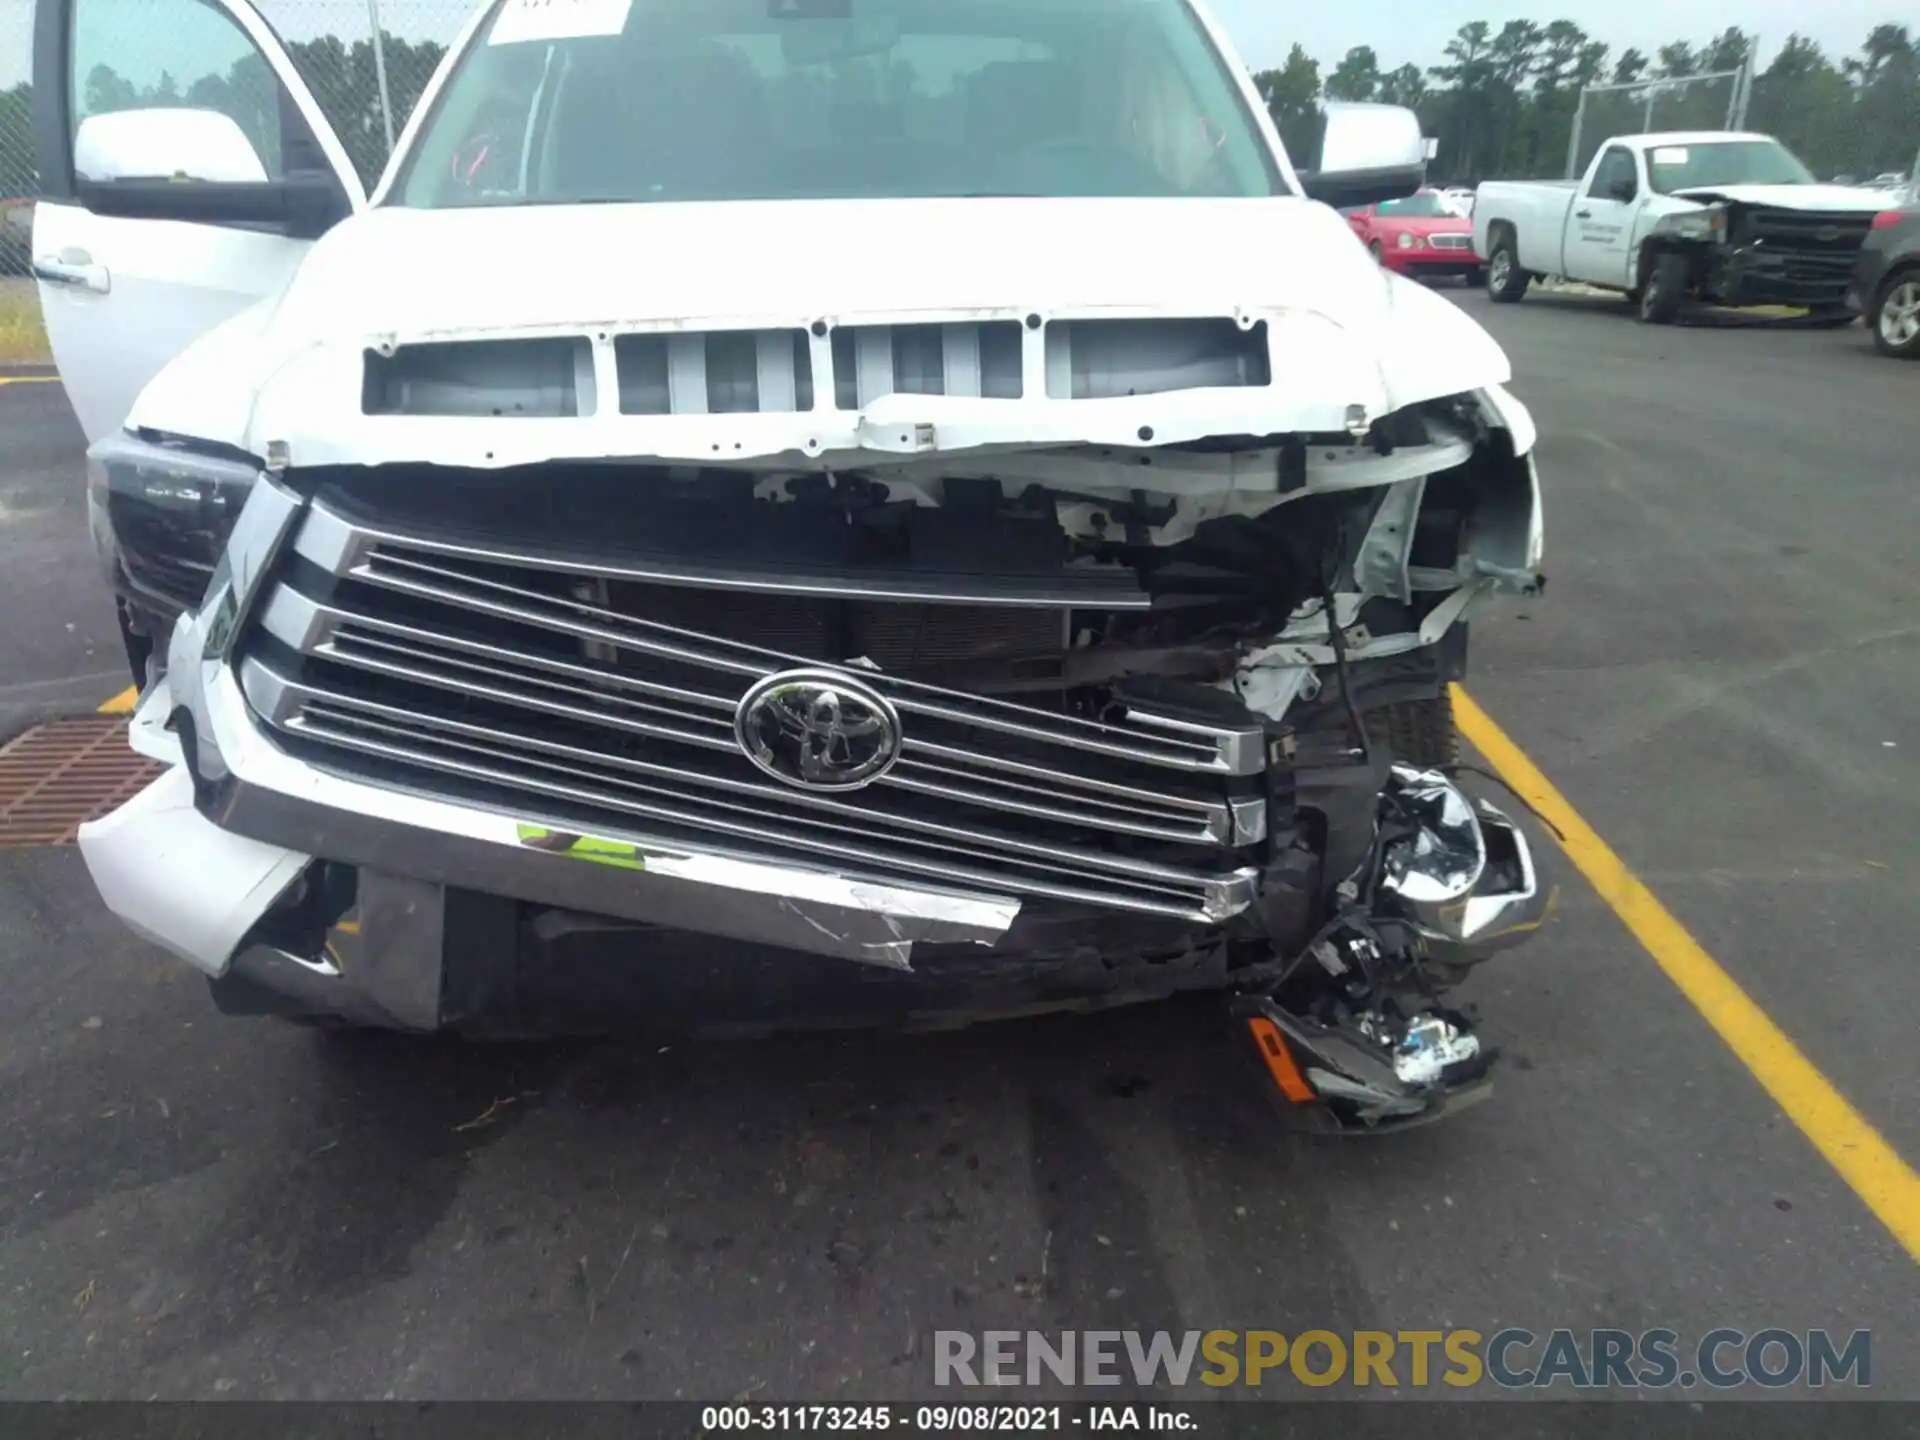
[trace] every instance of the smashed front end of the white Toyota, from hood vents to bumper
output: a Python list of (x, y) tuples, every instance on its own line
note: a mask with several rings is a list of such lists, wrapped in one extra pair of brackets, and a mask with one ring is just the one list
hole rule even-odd
[[(632, 989), (918, 1025), (1215, 989), (1302, 1112), (1438, 1114), (1492, 1058), (1440, 996), (1546, 904), (1448, 778), (1463, 618), (1542, 584), (1532, 424), (1379, 374), (1286, 411), (1290, 334), (1338, 332), (380, 342), (349, 420), (261, 440), (177, 612), (213, 511), (169, 557), (156, 497), (230, 495), (232, 449), (106, 442), (136, 741), (177, 768), (83, 833), (96, 881), (230, 1010), (574, 1029)], [(718, 964), (751, 979), (695, 993)]]

